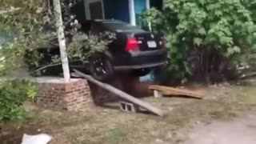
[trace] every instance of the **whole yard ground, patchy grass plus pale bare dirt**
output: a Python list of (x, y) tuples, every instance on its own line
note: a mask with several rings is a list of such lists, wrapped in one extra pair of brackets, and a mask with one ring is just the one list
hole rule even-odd
[(0, 143), (20, 144), (24, 133), (50, 134), (50, 144), (256, 143), (255, 86), (199, 87), (206, 91), (202, 100), (143, 98), (166, 110), (164, 118), (125, 113), (115, 104), (83, 114), (26, 104), (30, 118), (20, 129), (3, 126)]

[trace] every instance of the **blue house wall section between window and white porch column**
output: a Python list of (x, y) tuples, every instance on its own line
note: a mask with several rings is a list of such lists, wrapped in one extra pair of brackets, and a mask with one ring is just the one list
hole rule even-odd
[(104, 0), (105, 18), (130, 22), (128, 0)]

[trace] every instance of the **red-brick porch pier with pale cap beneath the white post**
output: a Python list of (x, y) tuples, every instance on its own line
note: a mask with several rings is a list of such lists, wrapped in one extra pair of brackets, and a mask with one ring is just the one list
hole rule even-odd
[(93, 103), (90, 87), (84, 79), (37, 78), (38, 99), (41, 106), (69, 111), (86, 110)]

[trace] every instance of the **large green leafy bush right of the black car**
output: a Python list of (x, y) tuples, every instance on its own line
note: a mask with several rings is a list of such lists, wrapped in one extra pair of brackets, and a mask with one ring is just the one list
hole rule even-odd
[[(194, 73), (188, 60), (194, 50), (218, 50), (223, 57), (235, 60), (231, 66), (234, 68), (246, 64), (244, 54), (254, 49), (256, 26), (252, 11), (248, 2), (240, 0), (166, 0), (162, 11), (147, 11), (142, 22), (151, 22), (153, 31), (166, 35), (170, 57), (167, 73), (180, 78)], [(210, 66), (206, 69), (202, 75), (205, 78), (211, 70)]]

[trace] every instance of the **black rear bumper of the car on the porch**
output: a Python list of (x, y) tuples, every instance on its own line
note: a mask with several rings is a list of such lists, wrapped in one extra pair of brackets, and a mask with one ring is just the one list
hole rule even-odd
[(167, 63), (167, 50), (131, 52), (129, 57), (123, 57), (123, 61), (119, 65), (114, 65), (114, 70), (133, 70), (162, 66)]

